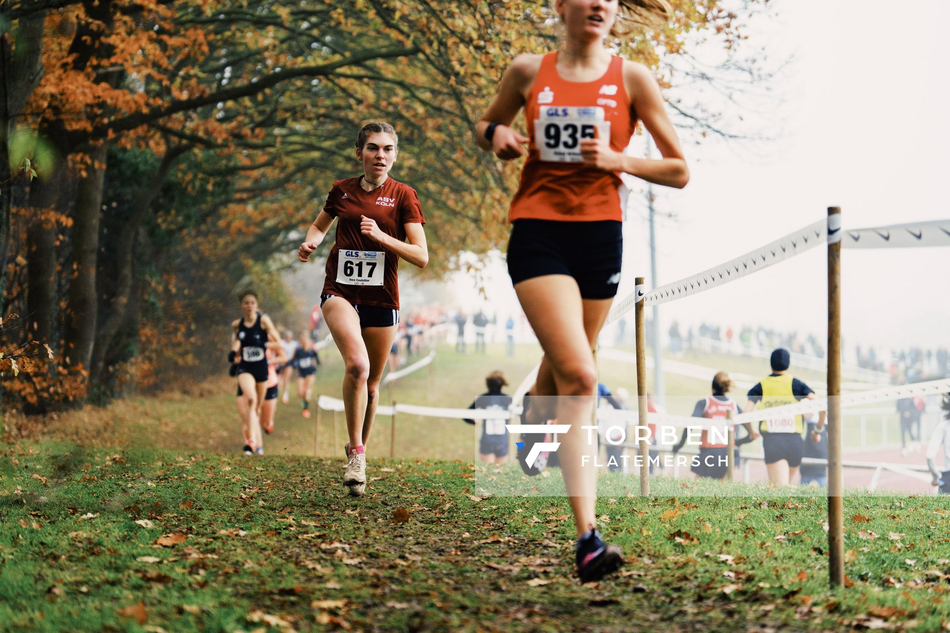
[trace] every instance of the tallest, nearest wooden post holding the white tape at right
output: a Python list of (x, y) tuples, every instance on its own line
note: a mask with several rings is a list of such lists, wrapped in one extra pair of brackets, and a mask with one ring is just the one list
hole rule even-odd
[(841, 208), (828, 207), (828, 583), (845, 585), (841, 470)]

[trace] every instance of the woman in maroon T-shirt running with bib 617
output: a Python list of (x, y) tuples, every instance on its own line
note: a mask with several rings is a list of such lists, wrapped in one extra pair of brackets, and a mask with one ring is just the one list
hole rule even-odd
[(399, 324), (399, 259), (419, 268), (428, 264), (419, 197), (389, 177), (398, 145), (389, 123), (363, 126), (356, 140), (363, 176), (333, 183), (323, 211), (297, 251), (300, 261), (308, 261), (333, 219), (339, 219), (320, 305), (346, 363), (343, 401), (350, 441), (344, 448), (349, 463), (343, 484), (354, 496), (366, 492), (365, 446)]

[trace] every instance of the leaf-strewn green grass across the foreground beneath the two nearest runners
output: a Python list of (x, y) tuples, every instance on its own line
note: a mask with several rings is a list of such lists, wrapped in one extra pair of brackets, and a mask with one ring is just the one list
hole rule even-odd
[(341, 467), (342, 458), (7, 445), (0, 630), (950, 627), (940, 497), (846, 498), (849, 586), (834, 592), (820, 496), (601, 498), (601, 528), (627, 564), (580, 586), (563, 498), (482, 498), (472, 486), (480, 467), (462, 461), (373, 460), (369, 494), (354, 499)]

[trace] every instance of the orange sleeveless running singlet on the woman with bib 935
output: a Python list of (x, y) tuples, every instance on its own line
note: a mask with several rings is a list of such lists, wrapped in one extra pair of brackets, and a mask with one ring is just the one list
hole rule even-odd
[[(622, 152), (634, 133), (623, 58), (613, 57), (593, 82), (568, 82), (558, 74), (558, 53), (542, 58), (524, 104), (528, 158), (508, 219), (623, 220), (626, 188), (618, 174), (581, 164), (580, 140), (610, 136)], [(622, 190), (622, 191), (621, 191)]]

